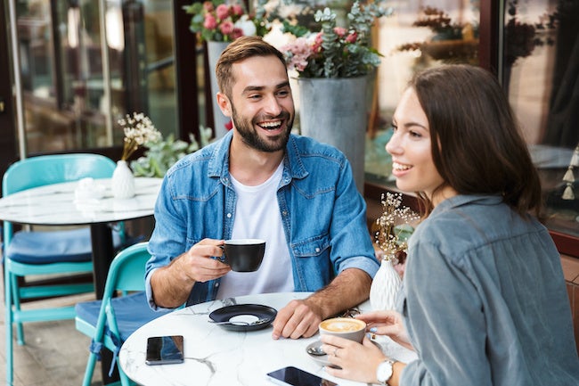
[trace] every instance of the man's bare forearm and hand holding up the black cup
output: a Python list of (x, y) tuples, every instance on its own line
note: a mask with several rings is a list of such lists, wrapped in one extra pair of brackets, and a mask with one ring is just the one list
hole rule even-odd
[(159, 307), (176, 308), (189, 297), (194, 283), (205, 283), (231, 271), (213, 257), (223, 255), (223, 240), (203, 239), (151, 276), (153, 299)]

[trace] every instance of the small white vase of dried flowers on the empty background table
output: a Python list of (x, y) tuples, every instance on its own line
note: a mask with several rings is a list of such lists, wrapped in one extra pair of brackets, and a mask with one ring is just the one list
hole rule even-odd
[(123, 142), (123, 154), (117, 161), (117, 168), (112, 173), (111, 189), (116, 199), (128, 199), (135, 196), (135, 176), (128, 167), (128, 158), (139, 148), (147, 143), (158, 141), (161, 134), (152, 124), (151, 119), (142, 112), (126, 114), (123, 119), (118, 119), (118, 125), (123, 127), (125, 139)]

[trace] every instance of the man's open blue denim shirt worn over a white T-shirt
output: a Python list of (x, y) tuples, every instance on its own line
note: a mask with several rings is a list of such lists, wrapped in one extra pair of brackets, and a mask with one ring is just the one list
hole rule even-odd
[[(237, 201), (229, 175), (231, 141), (232, 132), (179, 160), (164, 178), (145, 274), (152, 308), (158, 307), (151, 296), (151, 271), (204, 238), (231, 238)], [(347, 158), (337, 149), (291, 135), (277, 201), (296, 292), (320, 290), (351, 267), (376, 274), (379, 262), (366, 225), (366, 204)], [(215, 300), (219, 281), (195, 283), (187, 305)]]

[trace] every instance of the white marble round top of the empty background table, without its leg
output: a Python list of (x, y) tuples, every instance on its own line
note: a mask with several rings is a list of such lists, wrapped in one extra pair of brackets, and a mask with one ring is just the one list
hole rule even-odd
[[(45, 226), (88, 225), (151, 216), (162, 178), (135, 178), (135, 197), (116, 199), (110, 178), (94, 179), (102, 198), (78, 197), (79, 182), (39, 186), (0, 199), (0, 219)], [(78, 198), (77, 198), (78, 197)]]

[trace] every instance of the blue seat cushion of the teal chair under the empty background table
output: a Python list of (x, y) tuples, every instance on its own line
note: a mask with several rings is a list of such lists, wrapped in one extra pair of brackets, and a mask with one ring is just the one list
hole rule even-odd
[[(113, 232), (113, 242), (116, 249), (121, 247), (118, 232)], [(13, 235), (6, 250), (6, 257), (24, 264), (90, 261), (92, 255), (91, 231), (87, 227), (53, 232), (20, 231)]]

